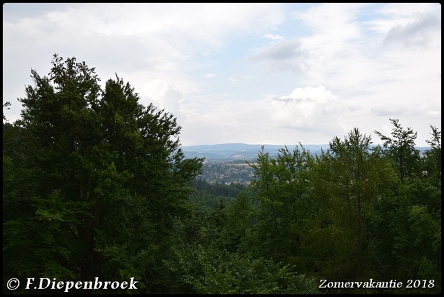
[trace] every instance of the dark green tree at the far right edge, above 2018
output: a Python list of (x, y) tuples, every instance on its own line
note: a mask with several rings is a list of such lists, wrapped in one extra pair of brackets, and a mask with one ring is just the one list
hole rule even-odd
[(397, 293), (437, 293), (441, 291), (441, 132), (432, 127), (432, 140), (427, 141), (431, 149), (418, 159), (413, 138), (408, 137), (416, 134), (409, 131), (399, 131), (396, 135), (404, 141), (392, 141), (395, 145), (383, 152), (402, 182), (375, 206), (373, 227), (379, 243), (374, 245), (374, 255), (383, 263), (379, 266), (383, 275), (434, 282), (433, 287)]

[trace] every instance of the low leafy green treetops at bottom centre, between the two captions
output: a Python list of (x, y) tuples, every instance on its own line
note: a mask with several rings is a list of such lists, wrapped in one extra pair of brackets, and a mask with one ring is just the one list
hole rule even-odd
[(214, 245), (173, 249), (165, 261), (188, 294), (318, 294), (314, 278), (295, 267), (249, 254), (230, 253)]

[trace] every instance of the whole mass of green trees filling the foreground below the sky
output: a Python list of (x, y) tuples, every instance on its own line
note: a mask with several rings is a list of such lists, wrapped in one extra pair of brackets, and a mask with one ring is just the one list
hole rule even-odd
[(94, 68), (54, 55), (31, 76), (22, 118), (3, 116), (3, 292), (12, 278), (14, 293), (63, 291), (28, 278), (137, 281), (70, 293), (441, 292), (436, 127), (424, 154), (389, 119), (384, 145), (355, 128), (316, 155), (259, 151), (248, 186), (210, 184), (176, 118), (117, 75), (102, 89)]

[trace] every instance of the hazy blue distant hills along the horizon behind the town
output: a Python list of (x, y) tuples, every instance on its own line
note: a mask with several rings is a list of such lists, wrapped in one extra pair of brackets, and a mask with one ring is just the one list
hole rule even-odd
[[(183, 146), (182, 150), (187, 158), (205, 158), (206, 160), (251, 160), (256, 159), (257, 154), (261, 150), (262, 145), (252, 145), (246, 143), (222, 143), (217, 145), (187, 145)], [(321, 154), (321, 150), (327, 150), (330, 145), (304, 145), (305, 150), (311, 154)], [(278, 152), (284, 145), (264, 145), (264, 150), (270, 156), (278, 156)], [(289, 150), (293, 150), (299, 145), (287, 145)], [(423, 152), (429, 150), (430, 147), (416, 147), (416, 149)]]

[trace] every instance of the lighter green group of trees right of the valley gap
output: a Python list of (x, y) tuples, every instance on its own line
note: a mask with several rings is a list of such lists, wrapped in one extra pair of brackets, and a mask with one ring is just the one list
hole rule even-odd
[[(440, 292), (441, 132), (431, 126), (431, 150), (420, 156), (416, 133), (391, 123), (393, 138), (377, 132), (383, 146), (370, 146), (355, 128), (316, 158), (302, 145), (282, 148), (276, 159), (259, 152), (253, 208), (241, 204), (248, 222), (238, 225), (248, 233), (236, 238), (238, 251), (293, 264), (318, 280), (404, 284), (326, 293)], [(421, 285), (407, 288), (409, 280)]]

